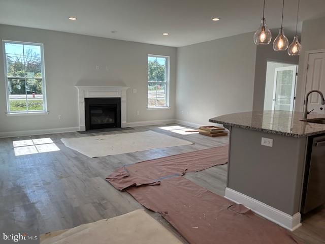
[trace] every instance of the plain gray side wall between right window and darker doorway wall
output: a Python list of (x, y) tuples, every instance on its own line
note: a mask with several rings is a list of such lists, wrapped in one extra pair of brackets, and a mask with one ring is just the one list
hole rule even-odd
[(197, 124), (251, 111), (256, 46), (253, 33), (177, 49), (176, 118)]

